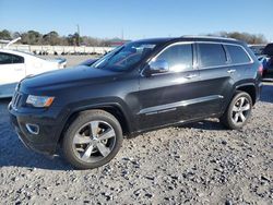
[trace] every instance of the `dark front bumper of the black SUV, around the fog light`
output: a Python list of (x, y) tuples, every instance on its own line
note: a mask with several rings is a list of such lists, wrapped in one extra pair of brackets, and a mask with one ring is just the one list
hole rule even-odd
[[(8, 107), (10, 112), (10, 121), (23, 144), (41, 154), (54, 155), (62, 131), (62, 120), (58, 109), (50, 111), (24, 110), (19, 112), (11, 105)], [(58, 111), (57, 111), (58, 110)], [(35, 110), (36, 111), (36, 110)], [(26, 129), (26, 123), (37, 124), (39, 126), (38, 134), (32, 134)]]

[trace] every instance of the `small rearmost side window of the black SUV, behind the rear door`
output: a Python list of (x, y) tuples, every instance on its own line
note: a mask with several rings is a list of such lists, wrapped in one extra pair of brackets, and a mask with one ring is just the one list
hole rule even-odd
[(250, 62), (250, 58), (247, 52), (240, 47), (235, 45), (226, 45), (226, 48), (230, 55), (232, 63), (248, 63)]

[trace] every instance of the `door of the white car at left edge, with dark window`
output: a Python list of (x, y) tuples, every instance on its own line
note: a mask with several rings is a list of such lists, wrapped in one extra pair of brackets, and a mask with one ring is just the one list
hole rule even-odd
[(24, 58), (0, 52), (0, 96), (11, 96), (14, 88), (25, 77)]

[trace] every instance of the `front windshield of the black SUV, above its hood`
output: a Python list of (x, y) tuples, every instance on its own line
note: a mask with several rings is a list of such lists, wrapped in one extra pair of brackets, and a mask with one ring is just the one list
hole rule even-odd
[(92, 64), (92, 68), (114, 71), (129, 70), (132, 65), (139, 63), (143, 58), (150, 55), (155, 46), (156, 44), (150, 43), (129, 43), (96, 61)]

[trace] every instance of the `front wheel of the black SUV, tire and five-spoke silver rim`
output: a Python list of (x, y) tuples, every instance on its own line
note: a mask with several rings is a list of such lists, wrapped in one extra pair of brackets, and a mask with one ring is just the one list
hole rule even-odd
[(76, 169), (94, 169), (119, 152), (123, 135), (118, 120), (104, 110), (88, 110), (70, 124), (62, 141), (64, 158)]

